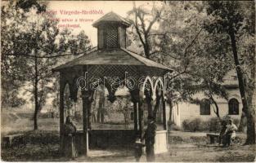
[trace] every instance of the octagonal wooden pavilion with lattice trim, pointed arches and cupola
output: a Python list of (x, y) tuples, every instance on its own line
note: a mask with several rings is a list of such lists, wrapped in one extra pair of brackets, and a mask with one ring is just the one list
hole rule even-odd
[[(155, 148), (155, 150), (166, 152), (167, 122), (164, 101), (164, 75), (172, 73), (172, 69), (137, 55), (132, 51), (128, 51), (126, 49), (126, 29), (130, 26), (130, 22), (114, 12), (104, 15), (92, 25), (97, 28), (97, 50), (53, 69), (54, 72), (60, 73), (61, 150), (63, 150), (64, 143), (65, 86), (69, 86), (70, 99), (75, 102), (78, 90), (81, 89), (79, 82), (83, 81), (83, 89), (81, 90), (83, 100), (83, 131), (81, 139), (78, 139), (78, 141), (80, 153), (87, 156), (88, 133), (91, 132), (89, 130), (90, 110), (95, 86), (97, 84), (104, 84), (109, 92), (108, 99), (110, 102), (114, 102), (117, 87), (115, 86), (116, 81), (113, 82), (113, 78), (119, 77), (120, 83), (128, 87), (131, 95), (135, 117), (134, 136), (142, 137), (144, 130), (141, 103), (146, 101), (148, 113), (152, 114), (153, 101), (162, 100), (160, 104), (162, 104), (161, 108), (163, 108), (164, 130), (156, 133), (155, 146), (158, 146), (158, 148)], [(80, 80), (81, 77), (84, 80)], [(97, 77), (97, 81), (95, 81), (95, 77)]]

